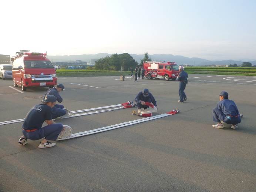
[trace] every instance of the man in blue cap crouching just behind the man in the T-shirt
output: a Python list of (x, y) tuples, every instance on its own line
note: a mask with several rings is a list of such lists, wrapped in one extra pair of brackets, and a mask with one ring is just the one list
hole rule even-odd
[[(50, 88), (46, 94), (44, 95), (44, 98), (47, 95), (54, 95), (57, 97), (57, 101), (61, 103), (63, 101), (63, 98), (60, 96), (59, 92), (64, 90), (63, 84), (58, 84), (56, 87)], [(61, 117), (66, 114), (66, 111), (64, 110), (64, 105), (55, 104), (55, 106), (51, 109), (51, 115), (52, 118), (55, 119), (57, 117)]]

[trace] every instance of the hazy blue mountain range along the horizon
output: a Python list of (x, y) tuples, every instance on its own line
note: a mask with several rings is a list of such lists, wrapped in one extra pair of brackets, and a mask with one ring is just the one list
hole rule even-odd
[[(98, 53), (98, 54), (83, 54), (83, 55), (48, 55), (48, 58), (53, 61), (75, 61), (82, 60), (87, 63), (91, 63), (93, 59), (99, 59), (106, 56), (111, 56), (109, 53)], [(144, 58), (144, 54), (130, 54), (135, 61), (140, 63), (141, 59)], [(235, 61), (235, 60), (222, 60), (222, 61), (210, 61), (197, 57), (183, 57), (181, 55), (171, 55), (171, 54), (153, 54), (149, 55), (152, 61), (174, 61), (176, 64), (183, 65), (229, 65), (229, 64), (237, 64), (241, 65), (243, 62), (250, 62), (252, 65), (256, 65), (255, 61)]]

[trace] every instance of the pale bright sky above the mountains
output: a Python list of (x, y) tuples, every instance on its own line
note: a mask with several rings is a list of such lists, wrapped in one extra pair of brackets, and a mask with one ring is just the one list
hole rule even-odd
[(0, 7), (0, 54), (256, 60), (256, 0), (8, 0)]

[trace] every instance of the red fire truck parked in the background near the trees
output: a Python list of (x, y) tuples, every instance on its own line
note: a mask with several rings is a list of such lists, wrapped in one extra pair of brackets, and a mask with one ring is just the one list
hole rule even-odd
[(179, 66), (174, 62), (144, 61), (143, 67), (145, 69), (145, 77), (148, 79), (164, 78), (166, 81), (169, 79), (176, 80), (179, 75)]

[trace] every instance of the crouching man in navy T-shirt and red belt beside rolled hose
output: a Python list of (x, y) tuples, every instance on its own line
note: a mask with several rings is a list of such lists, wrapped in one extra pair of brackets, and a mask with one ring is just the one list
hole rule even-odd
[[(25, 121), (22, 126), (22, 133), (20, 140), (18, 141), (22, 145), (27, 144), (27, 139), (38, 140), (44, 138), (38, 148), (47, 148), (56, 145), (49, 142), (56, 141), (58, 135), (63, 129), (61, 123), (54, 123), (51, 119), (51, 108), (54, 107), (57, 98), (54, 95), (48, 95), (43, 104), (35, 105), (26, 115)], [(48, 125), (42, 127), (43, 122)]]

